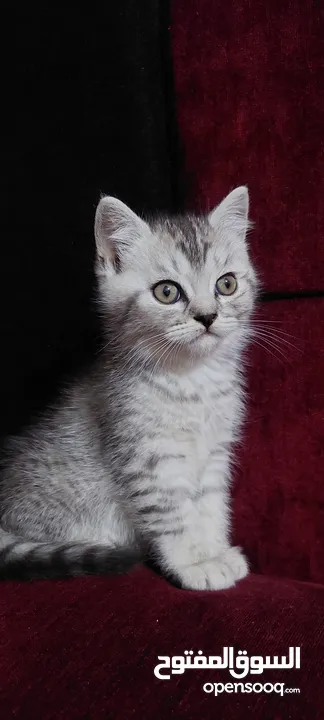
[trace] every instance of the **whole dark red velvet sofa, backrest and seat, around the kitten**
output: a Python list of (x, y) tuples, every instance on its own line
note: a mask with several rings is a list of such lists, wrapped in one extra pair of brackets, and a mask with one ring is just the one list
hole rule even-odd
[[(324, 717), (323, 9), (311, 0), (171, 9), (187, 204), (206, 209), (249, 186), (260, 317), (278, 328), (268, 351), (251, 350), (233, 487), (233, 534), (252, 573), (217, 593), (176, 589), (146, 568), (2, 585), (4, 719)], [(245, 679), (284, 683), (282, 695), (219, 686), (215, 696), (213, 684), (233, 682), (228, 670), (154, 675), (159, 655), (224, 646), (249, 656), (297, 646), (301, 667)]]

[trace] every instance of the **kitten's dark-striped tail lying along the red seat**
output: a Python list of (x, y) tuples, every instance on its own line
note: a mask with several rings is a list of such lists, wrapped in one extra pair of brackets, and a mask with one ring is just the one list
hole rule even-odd
[(119, 575), (139, 562), (140, 551), (136, 548), (110, 548), (88, 542), (33, 542), (0, 528), (0, 581)]

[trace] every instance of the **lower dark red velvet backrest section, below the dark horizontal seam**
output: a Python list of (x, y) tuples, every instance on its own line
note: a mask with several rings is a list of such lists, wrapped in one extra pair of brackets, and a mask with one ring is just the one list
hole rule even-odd
[(258, 572), (324, 583), (321, 317), (324, 298), (260, 309), (260, 322), (277, 328), (279, 339), (270, 342), (279, 349), (257, 345), (251, 353), (234, 519), (237, 539)]

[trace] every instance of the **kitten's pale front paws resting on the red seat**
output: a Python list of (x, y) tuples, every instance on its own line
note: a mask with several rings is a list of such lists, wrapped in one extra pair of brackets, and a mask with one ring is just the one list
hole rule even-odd
[(225, 590), (235, 585), (249, 572), (240, 548), (230, 547), (213, 560), (181, 569), (181, 585), (187, 590)]

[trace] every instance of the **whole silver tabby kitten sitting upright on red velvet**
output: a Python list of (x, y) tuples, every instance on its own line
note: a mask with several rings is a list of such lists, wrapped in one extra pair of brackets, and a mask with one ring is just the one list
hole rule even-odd
[(149, 222), (101, 199), (107, 345), (11, 443), (1, 579), (124, 572), (148, 553), (184, 588), (218, 590), (247, 574), (229, 509), (257, 291), (247, 229), (245, 187), (208, 216)]

